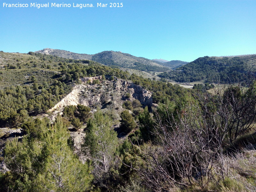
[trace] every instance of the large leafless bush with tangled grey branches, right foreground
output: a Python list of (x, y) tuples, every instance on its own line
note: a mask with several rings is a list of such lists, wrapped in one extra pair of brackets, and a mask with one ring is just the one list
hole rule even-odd
[[(171, 191), (174, 185), (206, 186), (224, 180), (228, 173), (223, 148), (250, 131), (256, 116), (256, 84), (215, 88), (215, 94), (187, 97), (177, 103), (165, 121), (155, 112), (155, 140), (134, 145), (143, 163), (128, 165), (154, 191)], [(179, 106), (180, 105), (180, 106)], [(169, 111), (166, 109), (166, 111)], [(175, 115), (174, 115), (175, 114)]]

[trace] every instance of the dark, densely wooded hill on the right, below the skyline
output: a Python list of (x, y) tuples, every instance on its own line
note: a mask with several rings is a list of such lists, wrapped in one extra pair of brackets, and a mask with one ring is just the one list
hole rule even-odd
[(175, 71), (159, 74), (176, 82), (241, 82), (256, 71), (256, 54), (230, 57), (200, 57)]

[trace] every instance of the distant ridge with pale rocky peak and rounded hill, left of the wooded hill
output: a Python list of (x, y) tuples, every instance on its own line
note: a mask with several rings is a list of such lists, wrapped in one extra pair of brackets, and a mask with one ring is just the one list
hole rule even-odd
[(86, 59), (93, 60), (99, 63), (102, 63), (107, 66), (117, 66), (123, 68), (137, 69), (141, 71), (156, 71), (163, 72), (166, 70), (170, 70), (170, 68), (166, 68), (160, 65), (158, 62), (154, 62), (153, 60), (149, 60), (143, 57), (135, 57), (128, 53), (122, 52), (114, 52), (114, 51), (103, 51), (97, 54), (78, 54), (74, 52), (68, 52), (65, 50), (59, 49), (43, 49), (40, 51), (36, 51), (36, 53), (50, 54), (59, 57), (64, 57), (67, 59)]

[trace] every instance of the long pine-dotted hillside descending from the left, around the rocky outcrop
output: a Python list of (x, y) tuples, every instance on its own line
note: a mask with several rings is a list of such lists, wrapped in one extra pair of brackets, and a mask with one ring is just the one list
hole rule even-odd
[[(22, 123), (18, 120), (15, 122), (14, 119), (21, 118), (21, 113), (25, 113), (23, 114), (25, 116), (26, 114), (36, 116), (46, 113), (74, 91), (76, 84), (83, 82), (84, 78), (99, 75), (109, 76), (108, 78), (116, 76), (125, 80), (129, 79), (130, 83), (117, 80), (115, 77), (116, 80), (104, 85), (104, 89), (101, 87), (103, 84), (100, 87), (92, 85), (85, 91), (88, 95), (93, 95), (92, 101), (83, 102), (83, 104), (86, 103), (87, 106), (94, 109), (97, 106), (102, 108), (109, 100), (118, 101), (119, 108), (121, 108), (122, 102), (128, 99), (125, 99), (126, 93), (130, 93), (129, 98), (138, 99), (145, 107), (144, 103), (148, 102), (148, 99), (143, 101), (140, 96), (136, 96), (140, 92), (136, 86), (152, 91), (151, 100), (155, 103), (162, 102), (164, 98), (172, 99), (182, 96), (186, 92), (179, 86), (166, 85), (164, 82), (152, 81), (148, 78), (144, 79), (134, 74), (131, 75), (128, 71), (109, 68), (91, 60), (65, 59), (34, 52), (28, 54), (0, 52), (0, 126), (20, 126)], [(119, 83), (118, 86), (117, 83)], [(125, 86), (128, 88), (126, 87), (122, 94), (119, 94), (118, 90), (112, 90), (112, 87), (116, 86), (120, 90), (123, 90)], [(102, 91), (100, 91), (101, 89)], [(131, 92), (131, 89), (136, 90)], [(80, 90), (79, 93), (85, 94), (85, 92)], [(118, 97), (114, 97), (115, 95)], [(101, 98), (100, 101), (96, 99), (98, 96)], [(81, 97), (79, 96), (79, 98)], [(147, 106), (151, 107), (152, 102)], [(113, 109), (111, 108), (111, 110)], [(117, 116), (120, 116), (120, 113)]]

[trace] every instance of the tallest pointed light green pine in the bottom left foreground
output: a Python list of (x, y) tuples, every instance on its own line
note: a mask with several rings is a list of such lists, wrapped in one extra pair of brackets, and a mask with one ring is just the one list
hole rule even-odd
[[(87, 164), (79, 162), (68, 146), (69, 134), (60, 117), (45, 135), (45, 171), (38, 176), (42, 191), (85, 191), (92, 176)], [(49, 190), (50, 189), (50, 190)]]

